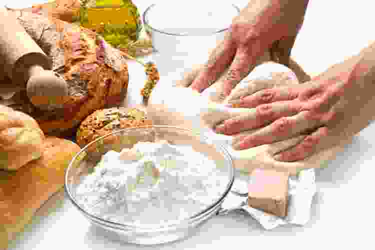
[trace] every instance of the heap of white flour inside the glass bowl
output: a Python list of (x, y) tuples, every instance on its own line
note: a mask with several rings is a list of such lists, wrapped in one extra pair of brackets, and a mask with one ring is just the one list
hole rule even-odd
[(76, 199), (87, 212), (113, 222), (159, 224), (207, 208), (228, 181), (227, 169), (189, 145), (138, 142), (105, 153), (78, 184)]

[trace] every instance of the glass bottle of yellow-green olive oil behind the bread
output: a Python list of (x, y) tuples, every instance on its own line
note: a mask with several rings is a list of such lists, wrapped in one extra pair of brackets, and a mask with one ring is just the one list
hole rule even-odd
[(137, 40), (141, 30), (140, 15), (131, 0), (81, 0), (79, 22), (114, 47)]

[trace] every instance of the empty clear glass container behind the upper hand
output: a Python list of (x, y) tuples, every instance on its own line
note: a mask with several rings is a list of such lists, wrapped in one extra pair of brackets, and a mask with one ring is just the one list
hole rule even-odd
[[(160, 77), (183, 72), (208, 59), (237, 16), (239, 8), (227, 1), (168, 1), (150, 5), (143, 13), (143, 24), (157, 51), (155, 61)], [(163, 81), (164, 82), (164, 81)]]

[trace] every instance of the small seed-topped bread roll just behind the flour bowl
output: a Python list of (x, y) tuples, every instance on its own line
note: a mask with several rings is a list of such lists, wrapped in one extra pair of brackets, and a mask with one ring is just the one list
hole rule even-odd
[(76, 142), (80, 147), (113, 131), (151, 125), (145, 111), (135, 107), (111, 107), (99, 109), (88, 115), (80, 124)]

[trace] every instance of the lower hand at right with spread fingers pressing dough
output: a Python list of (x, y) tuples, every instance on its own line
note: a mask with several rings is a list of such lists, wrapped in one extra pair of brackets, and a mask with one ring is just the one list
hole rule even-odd
[(245, 117), (223, 121), (215, 131), (235, 135), (251, 130), (247, 136), (237, 136), (233, 144), (236, 150), (305, 135), (298, 144), (274, 156), (280, 161), (301, 160), (347, 140), (362, 128), (363, 122), (356, 122), (363, 120), (358, 110), (370, 96), (363, 89), (363, 84), (349, 81), (348, 73), (344, 73), (339, 77), (250, 92), (228, 102), (255, 108), (249, 109)]

